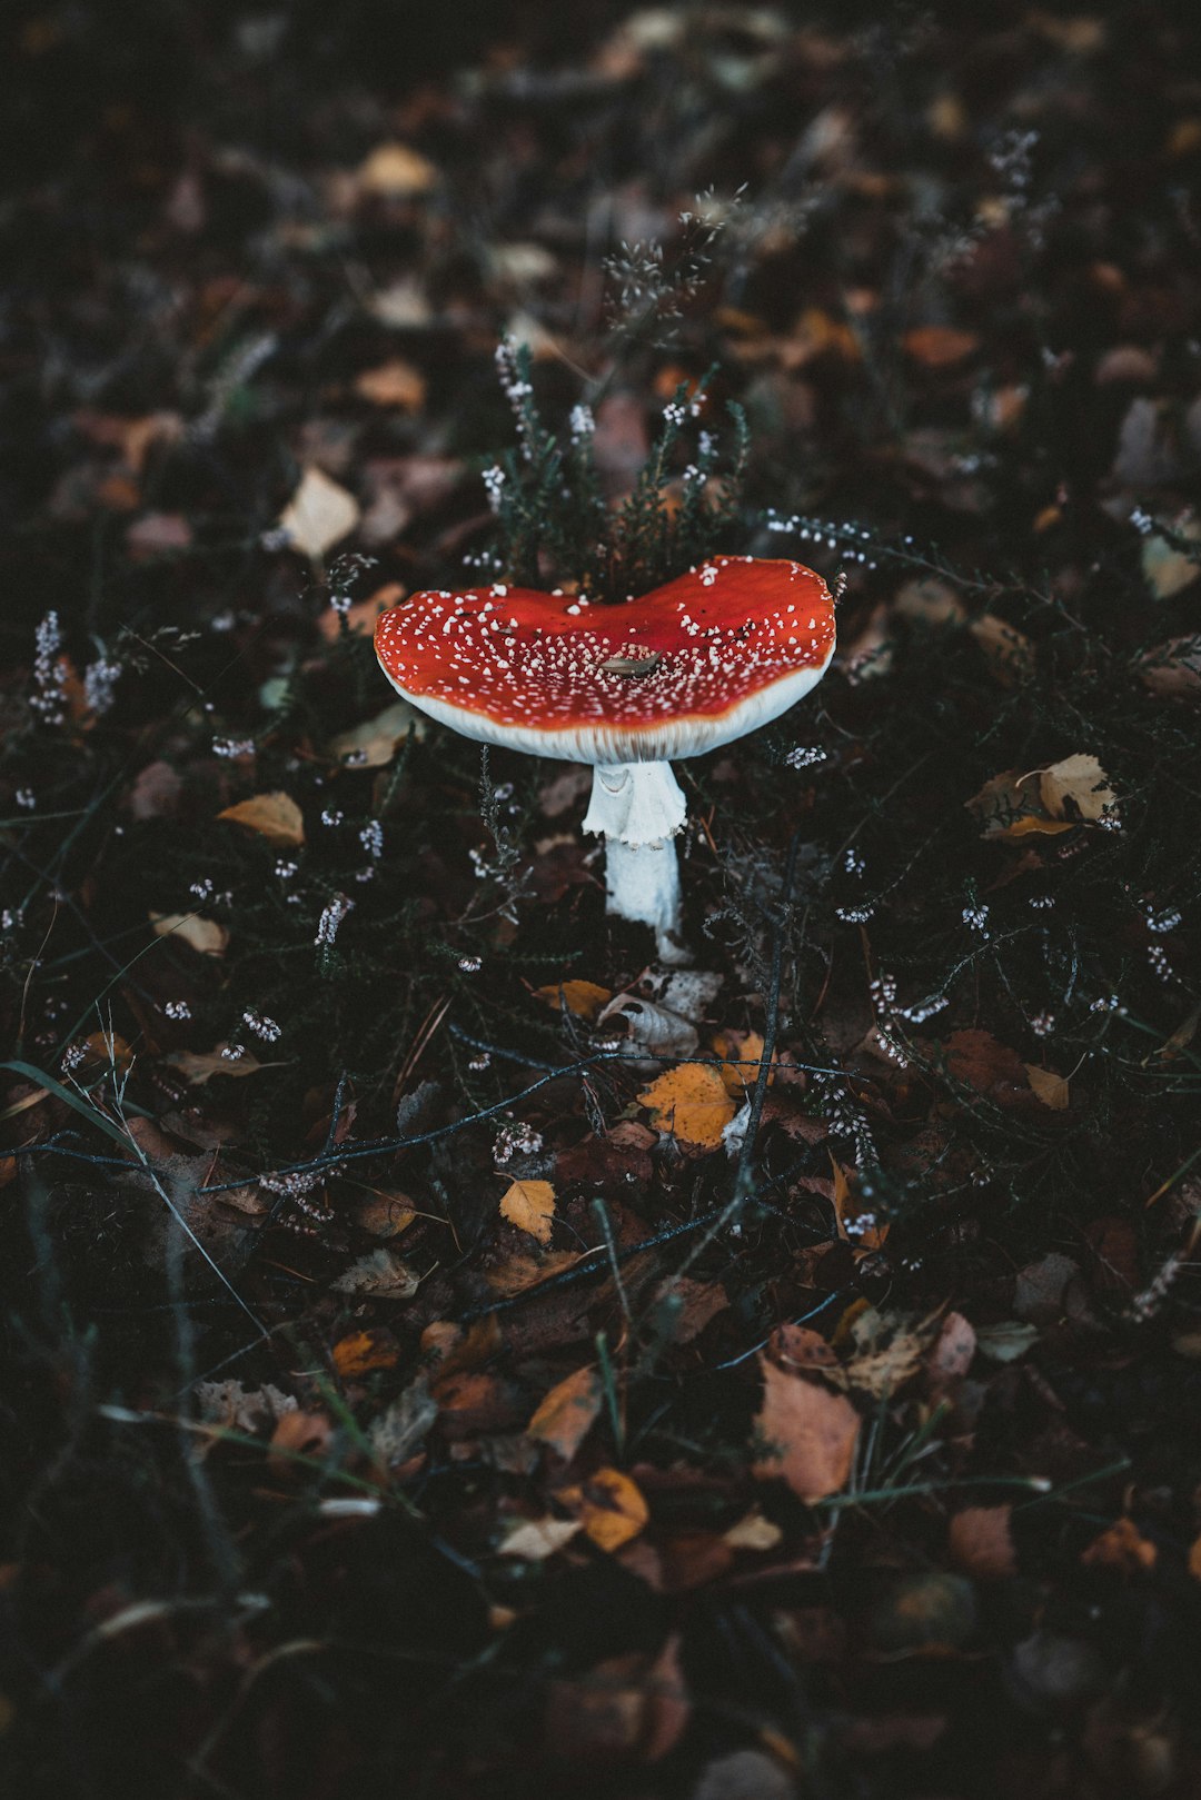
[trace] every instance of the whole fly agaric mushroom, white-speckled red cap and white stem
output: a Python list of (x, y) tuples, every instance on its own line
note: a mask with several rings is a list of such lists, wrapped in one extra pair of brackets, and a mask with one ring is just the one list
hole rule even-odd
[(385, 612), (393, 686), (465, 738), (592, 765), (585, 832), (605, 839), (609, 911), (679, 961), (686, 817), (670, 758), (787, 713), (834, 653), (834, 601), (798, 562), (715, 556), (618, 605), (492, 587), (423, 592)]

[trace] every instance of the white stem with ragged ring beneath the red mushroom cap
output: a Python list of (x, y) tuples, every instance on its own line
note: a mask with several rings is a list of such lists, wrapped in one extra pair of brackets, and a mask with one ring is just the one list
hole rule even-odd
[(652, 925), (664, 963), (682, 959), (681, 882), (672, 839), (688, 803), (670, 763), (598, 763), (585, 832), (605, 839), (607, 911)]

